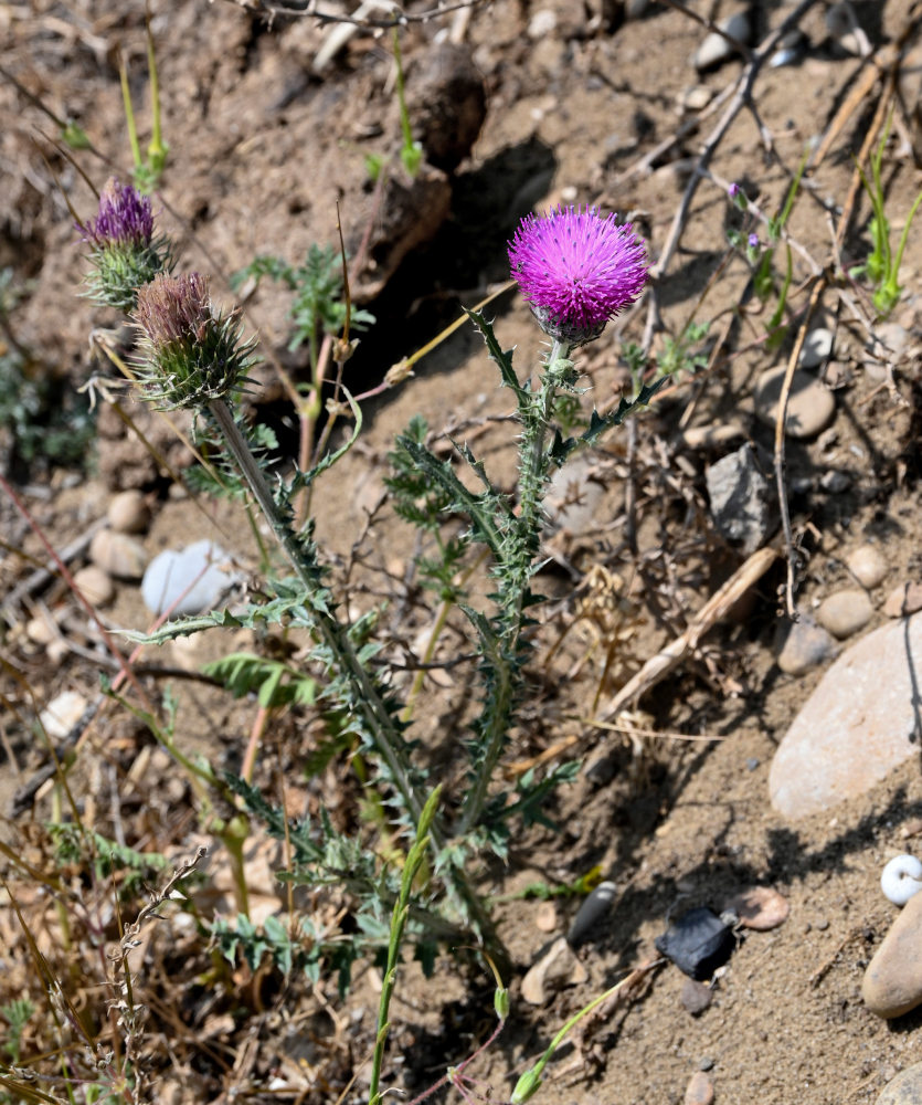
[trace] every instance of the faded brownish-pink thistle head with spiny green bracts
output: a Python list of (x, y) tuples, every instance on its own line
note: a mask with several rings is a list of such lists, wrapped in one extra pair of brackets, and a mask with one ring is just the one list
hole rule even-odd
[(239, 308), (213, 309), (208, 285), (199, 273), (160, 273), (138, 291), (142, 359), (136, 368), (146, 397), (163, 409), (205, 407), (247, 382), (253, 340), (241, 339)]

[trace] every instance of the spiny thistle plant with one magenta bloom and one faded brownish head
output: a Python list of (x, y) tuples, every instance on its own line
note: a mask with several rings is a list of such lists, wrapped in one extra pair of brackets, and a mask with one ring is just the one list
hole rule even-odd
[[(356, 419), (351, 441), (322, 456), (312, 469), (296, 469), (287, 482), (271, 484), (234, 409), (253, 360), (253, 343), (243, 336), (240, 313), (214, 307), (208, 277), (167, 272), (157, 273), (139, 288), (133, 312), (141, 335), (136, 367), (145, 398), (161, 408), (191, 409), (220, 434), (294, 573), (269, 578), (274, 598), (267, 601), (168, 623), (144, 640), (160, 643), (211, 625), (272, 621), (309, 631), (315, 642), (311, 660), (325, 671), (325, 678), (316, 683), (316, 704), (333, 746), (347, 747), (343, 737), (350, 738), (352, 750), (358, 743), (364, 762), (371, 766), (379, 801), (388, 806), (392, 822), (416, 843), (402, 860), (399, 852), (389, 849), (385, 861), (369, 851), (365, 842), (336, 833), (326, 820), (320, 825), (289, 825), (253, 787), (242, 780), (231, 781), (231, 786), (271, 831), (299, 842), (290, 877), (311, 885), (337, 882), (347, 886), (354, 899), (369, 904), (362, 929), (365, 935), (380, 933), (381, 948), (389, 949), (389, 970), (395, 969), (396, 951), (404, 939), (412, 939), (431, 958), (431, 950), (425, 949), (431, 949), (434, 940), (457, 944), (473, 937), (504, 961), (488, 912), (470, 882), (470, 860), (484, 851), (505, 855), (510, 827), (542, 818), (542, 800), (576, 769), (576, 765), (563, 765), (543, 778), (529, 772), (518, 781), (511, 798), (494, 786), (518, 707), (528, 692), (526, 664), (534, 624), (531, 612), (540, 601), (531, 585), (540, 566), (544, 493), (555, 466), (645, 407), (664, 382), (639, 387), (635, 396), (622, 399), (617, 409), (604, 417), (593, 411), (579, 436), (565, 436), (558, 424), (558, 410), (563, 404), (572, 414), (580, 394), (571, 352), (598, 338), (607, 322), (640, 295), (647, 278), (645, 248), (633, 228), (619, 225), (613, 215), (603, 217), (591, 208), (559, 208), (547, 217), (530, 215), (522, 221), (509, 245), (509, 260), (524, 298), (551, 337), (537, 383), (519, 379), (511, 352), (504, 351), (491, 324), (481, 314), (468, 314), (499, 368), (501, 386), (515, 396), (520, 431), (515, 492), (496, 486), (484, 463), (467, 448), (459, 448), (462, 460), (471, 466), (481, 486), (479, 492), (470, 491), (453, 465), (427, 448), (425, 430), (418, 423), (398, 439), (393, 454), (391, 486), (398, 497), (405, 493), (404, 502), (414, 496), (418, 501), (422, 494), (426, 499), (422, 513), (404, 516), (432, 535), (438, 516), (460, 515), (466, 519), (466, 533), (443, 544), (443, 550), (451, 551), (455, 566), (470, 545), (480, 545), (480, 559), (490, 565), (492, 593), (485, 609), (468, 606), (463, 593), (451, 587), (447, 593), (445, 575), (434, 577), (442, 585), (441, 597), (457, 601), (469, 619), (480, 656), (481, 694), (465, 747), (465, 783), (462, 792), (453, 796), (451, 813), (448, 803), (443, 806), (432, 797), (426, 772), (415, 755), (412, 734), (407, 733), (412, 715), (404, 712), (393, 682), (379, 674), (381, 666), (371, 663), (380, 651), (380, 644), (369, 635), (373, 622), (369, 618), (349, 619), (333, 594), (310, 519), (300, 526), (293, 520), (294, 496), (335, 464), (359, 433), (358, 404), (343, 389)], [(566, 423), (572, 424), (570, 415)], [(430, 855), (425, 869), (421, 866), (423, 851)], [(415, 882), (406, 877), (410, 867), (418, 872)], [(391, 929), (389, 936), (382, 911), (392, 908), (399, 908), (401, 922), (399, 930)], [(368, 941), (356, 948), (356, 954), (367, 951)], [(343, 965), (341, 957), (339, 966), (348, 976), (348, 962)]]

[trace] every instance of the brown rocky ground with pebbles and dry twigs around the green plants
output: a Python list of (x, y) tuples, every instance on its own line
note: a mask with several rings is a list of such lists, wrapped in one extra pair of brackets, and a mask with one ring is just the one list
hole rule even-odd
[[(868, 165), (888, 119), (882, 186), (894, 248), (920, 189), (920, 15), (902, 0), (689, 7), (497, 0), (437, 17), (407, 7), (406, 96), (426, 155), (410, 179), (396, 167), (390, 32), (345, 33), (349, 24), (282, 10), (268, 19), (229, 2), (151, 2), (170, 145), (159, 218), (183, 265), (212, 273), (230, 303), (231, 274), (254, 255), (297, 264), (312, 242), (335, 243), (338, 200), (357, 304), (378, 318), (349, 367), (360, 393), (462, 304), (495, 293), (504, 346), (517, 346), (522, 372), (534, 367), (540, 332), (504, 290), (518, 219), (557, 202), (629, 214), (649, 242), (654, 280), (581, 354), (586, 402), (610, 406), (629, 386), (626, 341), (674, 376), (649, 412), (581, 457), (551, 495), (534, 699), (505, 767), (509, 778), (522, 765), (579, 758), (582, 768), (550, 810), (559, 828), (532, 827), (507, 864), (478, 873), (512, 958), (512, 1015), (470, 1073), (492, 1087), (490, 1099), (508, 1099), (566, 1018), (628, 977), (561, 1049), (536, 1101), (909, 1103), (920, 1095), (922, 896), (901, 912), (880, 875), (922, 832), (919, 232), (887, 318), (852, 269), (870, 251), (871, 217), (856, 158)], [(717, 19), (734, 20), (724, 25), (742, 56), (713, 35)], [(11, 1022), (14, 999), (34, 1003), (6, 1055), (51, 1077), (42, 1055), (62, 1043), (40, 954), (75, 1021), (100, 1043), (113, 1038), (100, 998), (110, 968), (99, 955), (117, 939), (112, 886), (77, 859), (61, 867), (43, 828), (72, 819), (71, 798), (82, 823), (172, 866), (208, 846), (199, 918), (233, 916), (236, 902), (200, 796), (127, 709), (106, 704), (81, 729), (76, 754), (67, 750), (68, 792), (46, 781), (53, 769), (42, 774), (50, 761), (35, 718), (65, 740), (99, 702), (100, 669), (117, 670), (60, 573), (38, 572), (47, 560), (39, 528), (106, 630), (147, 628), (162, 606), (150, 575), (162, 571), (158, 558), (193, 543), (211, 543), (214, 561), (202, 606), (234, 601), (261, 567), (240, 507), (182, 488), (188, 424), (136, 403), (110, 364), (87, 352), (91, 332), (118, 319), (76, 295), (85, 261), (73, 222), (93, 212), (83, 173), (99, 188), (129, 166), (119, 51), (147, 141), (144, 7), (11, 3), (0, 35), (0, 266), (10, 272), (0, 440), (4, 480), (32, 518), (9, 493), (0, 499), (9, 814), (0, 862), (27, 920), (0, 899), (0, 1017)], [(64, 157), (55, 119), (74, 119), (92, 148)], [(772, 244), (767, 221), (805, 154), (763, 304), (755, 274)], [(369, 155), (393, 159), (381, 187)], [(769, 335), (788, 246), (778, 344)], [(290, 296), (266, 282), (240, 294), (266, 356), (254, 411), (294, 454), (285, 380), (304, 382), (307, 359), (288, 349)], [(386, 598), (389, 631), (412, 650), (431, 611), (405, 582), (417, 550), (385, 495), (388, 452), (422, 413), (476, 446), (508, 484), (508, 393), (462, 327), (364, 412), (359, 444), (318, 484), (317, 536), (357, 608)], [(62, 434), (85, 441), (76, 453), (91, 456), (87, 469)], [(236, 769), (257, 706), (190, 673), (242, 643), (254, 645), (212, 631), (136, 662), (148, 694), (170, 685), (177, 695), (179, 747)], [(416, 722), (449, 778), (469, 677), (434, 672)], [(274, 718), (261, 781), (272, 787), (280, 775), (289, 809), (322, 807), (356, 824), (361, 792), (346, 766), (304, 778), (317, 736), (308, 711)], [(254, 829), (245, 867), (254, 920), (289, 908), (274, 878), (283, 862)], [(573, 886), (592, 871), (604, 881), (587, 899), (529, 896), (536, 882)], [(162, 885), (166, 876), (145, 877)], [(713, 958), (696, 966), (682, 918), (702, 908), (713, 919), (692, 919), (710, 926)], [(149, 1007), (150, 1099), (367, 1099), (378, 969), (363, 965), (340, 997), (335, 979), (285, 979), (240, 958), (222, 966), (197, 924), (188, 911), (151, 924), (135, 964)], [(412, 1098), (491, 1032), (490, 979), (448, 955), (434, 982), (407, 964), (392, 1022), (384, 1085)], [(73, 1036), (64, 1042), (81, 1050)]]

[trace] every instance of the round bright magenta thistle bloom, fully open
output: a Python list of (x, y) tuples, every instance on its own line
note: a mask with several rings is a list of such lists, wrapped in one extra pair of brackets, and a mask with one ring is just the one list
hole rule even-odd
[(647, 281), (634, 228), (597, 208), (526, 215), (509, 243), (509, 264), (541, 328), (571, 346), (597, 338)]

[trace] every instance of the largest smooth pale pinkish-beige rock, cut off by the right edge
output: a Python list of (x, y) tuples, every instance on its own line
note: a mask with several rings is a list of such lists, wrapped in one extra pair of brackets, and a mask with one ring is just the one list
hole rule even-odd
[(769, 775), (785, 817), (861, 794), (919, 749), (922, 614), (868, 633), (833, 664), (782, 740)]

